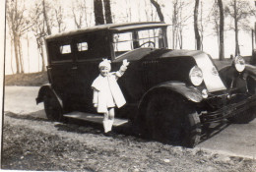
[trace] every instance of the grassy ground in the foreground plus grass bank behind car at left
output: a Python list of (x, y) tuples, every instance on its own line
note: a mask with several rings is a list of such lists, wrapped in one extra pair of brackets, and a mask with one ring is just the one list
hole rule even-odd
[[(7, 76), (5, 84), (40, 86), (47, 83), (42, 78), (46, 79), (46, 73)], [(114, 135), (106, 137), (102, 134), (101, 125), (77, 121), (54, 123), (32, 113), (6, 112), (2, 168), (62, 171), (256, 171), (255, 159), (197, 147), (185, 148), (147, 141), (123, 131), (127, 130), (114, 130)]]

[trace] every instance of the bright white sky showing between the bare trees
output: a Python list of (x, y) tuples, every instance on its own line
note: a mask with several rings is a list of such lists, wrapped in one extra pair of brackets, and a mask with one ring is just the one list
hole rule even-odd
[[(191, 5), (187, 7), (184, 11), (184, 15), (193, 15), (193, 8), (194, 8), (194, 0), (191, 1)], [(204, 0), (204, 13), (203, 16), (207, 17), (210, 10), (213, 7), (214, 0)], [(252, 3), (254, 1), (248, 0)], [(28, 10), (31, 8), (33, 0), (27, 0), (27, 8)], [(53, 2), (53, 1), (51, 1)], [(58, 4), (61, 2), (61, 5), (64, 7), (65, 10), (65, 23), (66, 30), (75, 29), (74, 22), (68, 15), (68, 10), (70, 10), (72, 5), (72, 0), (55, 0), (54, 3)], [(112, 6), (111, 11), (113, 15), (113, 22), (114, 23), (124, 23), (124, 22), (144, 22), (144, 21), (151, 21), (152, 18), (154, 20), (159, 20), (156, 10), (154, 6), (151, 5), (150, 0), (111, 0)], [(171, 24), (171, 15), (172, 15), (172, 4), (170, 0), (158, 0), (161, 5), (161, 10), (164, 15), (164, 21), (166, 24)], [(227, 0), (224, 0), (224, 4), (226, 4)], [(93, 12), (93, 0), (86, 0), (86, 4), (89, 7), (88, 13), (91, 14), (88, 17), (90, 18), (89, 26), (94, 26), (94, 12)], [(55, 5), (55, 4), (52, 4)], [(130, 12), (129, 12), (130, 10)], [(153, 12), (152, 17), (146, 17), (146, 13), (151, 14)], [(127, 18), (127, 13), (131, 14)], [(253, 28), (253, 24), (255, 22), (255, 18), (250, 20), (251, 28)], [(225, 19), (225, 24), (227, 25), (230, 21)], [(204, 51), (209, 53), (213, 58), (218, 58), (219, 50), (218, 50), (218, 40), (217, 36), (213, 36), (210, 31), (211, 26), (209, 23), (205, 22), (205, 36), (204, 36)], [(57, 30), (54, 30), (55, 33)], [(167, 36), (169, 39), (169, 48), (172, 47), (171, 45), (171, 26), (168, 29)], [(195, 38), (194, 38), (194, 24), (193, 24), (193, 17), (188, 20), (188, 23), (184, 29), (184, 39), (183, 39), (183, 49), (195, 49)], [(29, 41), (28, 41), (29, 40)], [(240, 51), (241, 55), (247, 56), (251, 55), (252, 52), (252, 41), (251, 41), (251, 33), (240, 32), (239, 34), (239, 41), (240, 41)], [(28, 48), (29, 45), (29, 48)], [(25, 73), (33, 73), (38, 72), (41, 69), (41, 61), (39, 61), (39, 55), (37, 53), (37, 47), (35, 43), (35, 39), (32, 35), (32, 32), (27, 32), (24, 35), (24, 39), (22, 40), (23, 46), (23, 56), (24, 56), (24, 64), (25, 64)], [(227, 58), (230, 54), (234, 53), (234, 32), (232, 30), (226, 30), (224, 32), (224, 56)], [(12, 61), (13, 71), (11, 68), (11, 57), (12, 54), (10, 38), (8, 33), (7, 27), (7, 40), (6, 40), (6, 74), (12, 74), (13, 71), (15, 72), (15, 63), (14, 60)], [(46, 57), (45, 57), (46, 59)]]

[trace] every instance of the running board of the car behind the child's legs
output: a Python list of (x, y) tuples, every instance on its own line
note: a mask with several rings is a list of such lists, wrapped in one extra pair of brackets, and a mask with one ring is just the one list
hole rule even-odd
[[(80, 120), (85, 120), (85, 121), (90, 121), (90, 122), (100, 123), (100, 124), (102, 123), (102, 120), (103, 120), (103, 115), (78, 112), (78, 111), (66, 113), (63, 116), (67, 117), (67, 118), (75, 118), (75, 119), (80, 119)], [(128, 123), (127, 119), (114, 118), (113, 126), (115, 126), (115, 127), (121, 126), (126, 123)]]

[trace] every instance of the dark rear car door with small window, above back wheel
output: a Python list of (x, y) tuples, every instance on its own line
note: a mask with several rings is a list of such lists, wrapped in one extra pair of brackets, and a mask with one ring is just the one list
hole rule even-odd
[(48, 76), (50, 84), (63, 100), (64, 112), (72, 110), (74, 85), (74, 47), (70, 38), (55, 39), (47, 42)]

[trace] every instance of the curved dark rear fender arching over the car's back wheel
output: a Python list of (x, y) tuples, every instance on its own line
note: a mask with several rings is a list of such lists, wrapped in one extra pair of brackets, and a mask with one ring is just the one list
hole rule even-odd
[(40, 89), (38, 91), (38, 95), (35, 98), (36, 104), (42, 102), (44, 96), (46, 96), (47, 94), (50, 94), (51, 96), (55, 97), (58, 100), (59, 105), (63, 108), (63, 102), (62, 102), (61, 98), (52, 89), (50, 84), (46, 84), (46, 85), (40, 87)]

